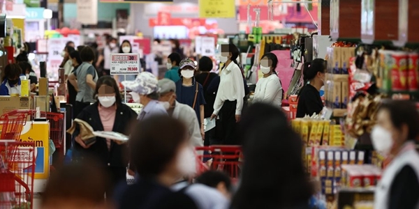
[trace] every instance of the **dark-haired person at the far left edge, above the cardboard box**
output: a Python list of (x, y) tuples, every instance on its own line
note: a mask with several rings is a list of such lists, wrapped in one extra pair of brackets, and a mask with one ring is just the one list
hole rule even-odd
[(3, 82), (0, 86), (0, 95), (20, 94), (20, 75), (22, 75), (22, 69), (18, 64), (6, 65), (2, 78)]

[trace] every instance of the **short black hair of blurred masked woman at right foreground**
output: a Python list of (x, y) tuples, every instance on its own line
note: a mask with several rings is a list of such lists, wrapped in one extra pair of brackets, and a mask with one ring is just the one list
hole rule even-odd
[[(401, 108), (402, 107), (402, 108)], [(416, 141), (419, 137), (419, 112), (416, 104), (409, 100), (383, 100), (378, 111), (387, 110), (390, 115), (390, 121), (398, 130), (403, 125), (409, 129), (407, 140)]]

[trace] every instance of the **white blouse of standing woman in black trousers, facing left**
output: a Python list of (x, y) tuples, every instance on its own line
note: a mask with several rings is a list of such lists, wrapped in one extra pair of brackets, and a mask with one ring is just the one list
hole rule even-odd
[(231, 62), (226, 68), (224, 68), (224, 70), (221, 71), (220, 84), (216, 93), (213, 114), (219, 114), (219, 111), (226, 100), (231, 102), (237, 100), (235, 114), (241, 115), (243, 98), (244, 82), (242, 70), (240, 70), (239, 66), (235, 63)]

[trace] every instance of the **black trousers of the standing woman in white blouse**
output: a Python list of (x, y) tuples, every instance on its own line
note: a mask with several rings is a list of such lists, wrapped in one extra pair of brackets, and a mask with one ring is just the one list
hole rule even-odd
[(240, 140), (237, 139), (237, 123), (235, 121), (235, 109), (237, 101), (225, 101), (223, 107), (220, 110), (220, 123), (221, 128), (217, 131), (221, 131), (221, 144), (225, 145), (239, 145)]

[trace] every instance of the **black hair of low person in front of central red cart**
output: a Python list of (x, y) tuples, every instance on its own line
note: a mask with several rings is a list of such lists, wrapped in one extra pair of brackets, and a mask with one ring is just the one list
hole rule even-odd
[(196, 183), (207, 185), (208, 187), (216, 188), (219, 183), (224, 183), (226, 188), (231, 190), (230, 176), (221, 171), (206, 171), (196, 178)]

